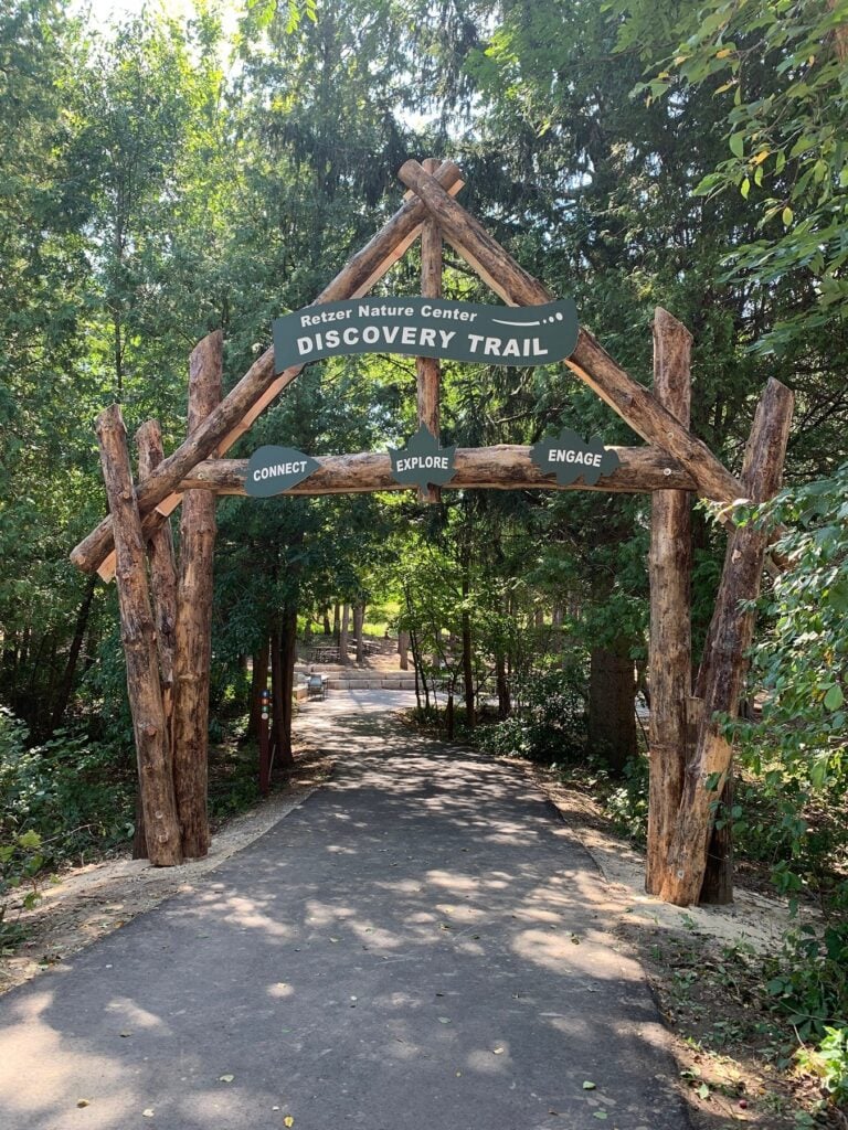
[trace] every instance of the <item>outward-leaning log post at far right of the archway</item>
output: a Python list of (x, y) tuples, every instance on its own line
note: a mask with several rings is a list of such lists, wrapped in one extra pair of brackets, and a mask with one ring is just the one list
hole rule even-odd
[[(791, 409), (793, 393), (779, 381), (770, 380), (756, 408), (742, 473), (745, 492), (754, 502), (765, 502), (780, 488)], [(709, 651), (699, 678), (703, 686), (703, 721), (686, 765), (660, 890), (661, 898), (678, 906), (694, 903), (703, 883), (712, 809), (721, 796), (733, 754), (722, 733), (721, 716), (735, 718), (738, 712), (745, 657), (754, 634), (752, 605), (760, 594), (767, 542), (768, 533), (753, 523), (737, 527), (728, 539)]]

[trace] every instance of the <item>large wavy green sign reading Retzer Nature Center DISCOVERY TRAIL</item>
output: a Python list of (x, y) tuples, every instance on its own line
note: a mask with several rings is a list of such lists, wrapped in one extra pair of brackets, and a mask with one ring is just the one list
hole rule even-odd
[(544, 306), (484, 306), (442, 298), (328, 302), (274, 322), (274, 364), (282, 373), (321, 357), (391, 353), (485, 365), (550, 365), (578, 337), (571, 298)]

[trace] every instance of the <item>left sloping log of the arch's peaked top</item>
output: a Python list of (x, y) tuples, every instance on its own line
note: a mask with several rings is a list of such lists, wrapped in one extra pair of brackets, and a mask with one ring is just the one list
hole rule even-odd
[[(459, 191), (462, 174), (455, 164), (444, 162), (435, 180), (448, 192)], [(405, 202), (377, 235), (347, 261), (312, 305), (366, 294), (413, 243), (426, 218), (427, 210), (421, 200), (414, 198)], [(139, 487), (140, 512), (147, 514), (154, 510), (202, 459), (208, 459), (216, 450), (223, 454), (250, 427), (259, 412), (297, 376), (301, 368), (293, 366), (277, 376), (274, 372), (274, 349), (266, 349), (204, 424)], [(112, 521), (105, 518), (73, 548), (70, 558), (84, 572), (92, 573), (99, 568), (113, 545)]]

